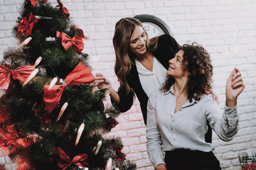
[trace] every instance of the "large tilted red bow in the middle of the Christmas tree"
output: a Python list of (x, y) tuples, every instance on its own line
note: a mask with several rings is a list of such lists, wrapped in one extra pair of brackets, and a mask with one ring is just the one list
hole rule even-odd
[(46, 111), (52, 112), (57, 106), (63, 94), (65, 86), (89, 83), (95, 81), (90, 69), (80, 62), (75, 69), (65, 78), (64, 85), (54, 85), (52, 89), (48, 90), (48, 85), (44, 86), (43, 101), (46, 103)]

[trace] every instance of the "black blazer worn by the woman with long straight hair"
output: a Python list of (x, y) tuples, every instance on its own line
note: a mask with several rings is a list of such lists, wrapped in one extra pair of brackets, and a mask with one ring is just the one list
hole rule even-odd
[[(169, 60), (174, 58), (178, 49), (178, 42), (171, 37), (169, 34), (164, 34), (159, 36), (158, 45), (156, 50), (153, 52), (154, 57), (166, 68), (169, 68)], [(149, 96), (146, 95), (144, 89), (142, 89), (142, 84), (139, 81), (139, 74), (137, 71), (137, 67), (135, 65), (134, 58), (136, 56), (130, 52), (129, 58), (134, 63), (132, 64), (132, 68), (130, 72), (127, 74), (127, 82), (129, 86), (134, 89), (134, 93), (136, 94), (137, 98), (139, 99), (139, 103), (142, 109), (142, 115), (144, 118), (144, 123), (146, 125), (146, 106), (149, 99)], [(118, 106), (119, 110), (123, 113), (128, 111), (132, 104), (134, 103), (134, 96), (132, 92), (126, 94), (125, 89), (119, 89), (117, 94), (119, 94), (120, 103), (116, 105)], [(113, 101), (112, 101), (113, 102)], [(211, 142), (211, 130), (210, 131), (210, 139), (208, 141)], [(206, 142), (208, 142), (206, 141)]]

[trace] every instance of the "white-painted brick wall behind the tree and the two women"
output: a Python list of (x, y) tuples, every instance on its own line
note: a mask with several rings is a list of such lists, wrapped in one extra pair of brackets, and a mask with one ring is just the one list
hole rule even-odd
[[(16, 46), (11, 29), (18, 17), (22, 0), (0, 0), (0, 57), (9, 46)], [(50, 0), (54, 5), (56, 1)], [(102, 72), (117, 89), (114, 75), (114, 25), (120, 18), (151, 14), (164, 20), (176, 40), (199, 42), (210, 52), (214, 65), (215, 92), (220, 106), (225, 103), (225, 81), (233, 67), (238, 67), (245, 81), (245, 90), (238, 98), (240, 130), (230, 141), (223, 142), (213, 132), (215, 154), (222, 169), (238, 170), (238, 154), (256, 149), (256, 1), (255, 0), (63, 0), (73, 22), (90, 40), (84, 52), (90, 55), (95, 72)], [(236, 44), (239, 32), (238, 43)], [(237, 51), (237, 52), (235, 52)], [(140, 170), (152, 170), (146, 153), (145, 126), (136, 101), (131, 110), (117, 119), (119, 125), (110, 133), (122, 137), (127, 158)], [(0, 163), (14, 165), (6, 157)]]

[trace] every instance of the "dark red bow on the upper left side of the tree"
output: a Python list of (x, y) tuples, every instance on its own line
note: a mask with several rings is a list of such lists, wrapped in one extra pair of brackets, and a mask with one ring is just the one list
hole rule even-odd
[(24, 33), (24, 32), (26, 32), (26, 35), (25, 35), (26, 37), (28, 35), (31, 35), (33, 25), (35, 23), (37, 23), (37, 21), (38, 21), (38, 19), (35, 16), (33, 16), (32, 13), (28, 19), (26, 17), (24, 17), (18, 25), (18, 32), (17, 32), (16, 36), (18, 36), (19, 34)]

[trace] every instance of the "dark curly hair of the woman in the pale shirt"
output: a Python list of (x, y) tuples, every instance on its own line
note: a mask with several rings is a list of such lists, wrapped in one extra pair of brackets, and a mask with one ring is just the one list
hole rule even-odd
[[(196, 42), (193, 42), (192, 45), (184, 44), (179, 46), (179, 50), (184, 52), (181, 64), (184, 65), (184, 69), (188, 72), (188, 100), (191, 102), (192, 98), (194, 98), (198, 101), (201, 99), (202, 94), (206, 93), (206, 90), (210, 91), (212, 89), (213, 66), (210, 55), (202, 45), (198, 45)], [(164, 93), (169, 91), (174, 81), (173, 77), (167, 76), (161, 91)]]

